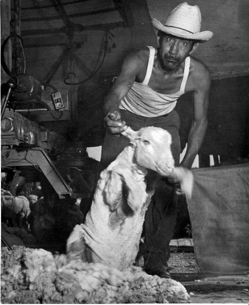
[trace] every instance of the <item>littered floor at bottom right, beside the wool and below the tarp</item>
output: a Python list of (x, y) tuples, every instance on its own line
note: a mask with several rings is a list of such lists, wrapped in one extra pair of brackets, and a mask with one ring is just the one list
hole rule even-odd
[(194, 253), (171, 252), (168, 264), (172, 279), (182, 283), (190, 294), (190, 303), (249, 302), (249, 274), (203, 274)]

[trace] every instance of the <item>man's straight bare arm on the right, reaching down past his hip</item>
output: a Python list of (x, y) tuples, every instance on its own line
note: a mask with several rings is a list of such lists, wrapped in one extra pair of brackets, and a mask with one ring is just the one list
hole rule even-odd
[(203, 142), (207, 129), (207, 108), (209, 102), (210, 74), (205, 68), (201, 75), (196, 77), (194, 91), (194, 119), (188, 136), (186, 154), (181, 166), (191, 168)]

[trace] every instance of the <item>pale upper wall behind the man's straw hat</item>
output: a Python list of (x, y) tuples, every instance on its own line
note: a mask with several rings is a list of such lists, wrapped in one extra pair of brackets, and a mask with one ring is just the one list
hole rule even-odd
[[(165, 22), (171, 10), (183, 1), (147, 0), (152, 17)], [(249, 74), (248, 0), (188, 0), (201, 11), (201, 31), (211, 31), (214, 36), (200, 44), (194, 56), (210, 69), (212, 79)]]

